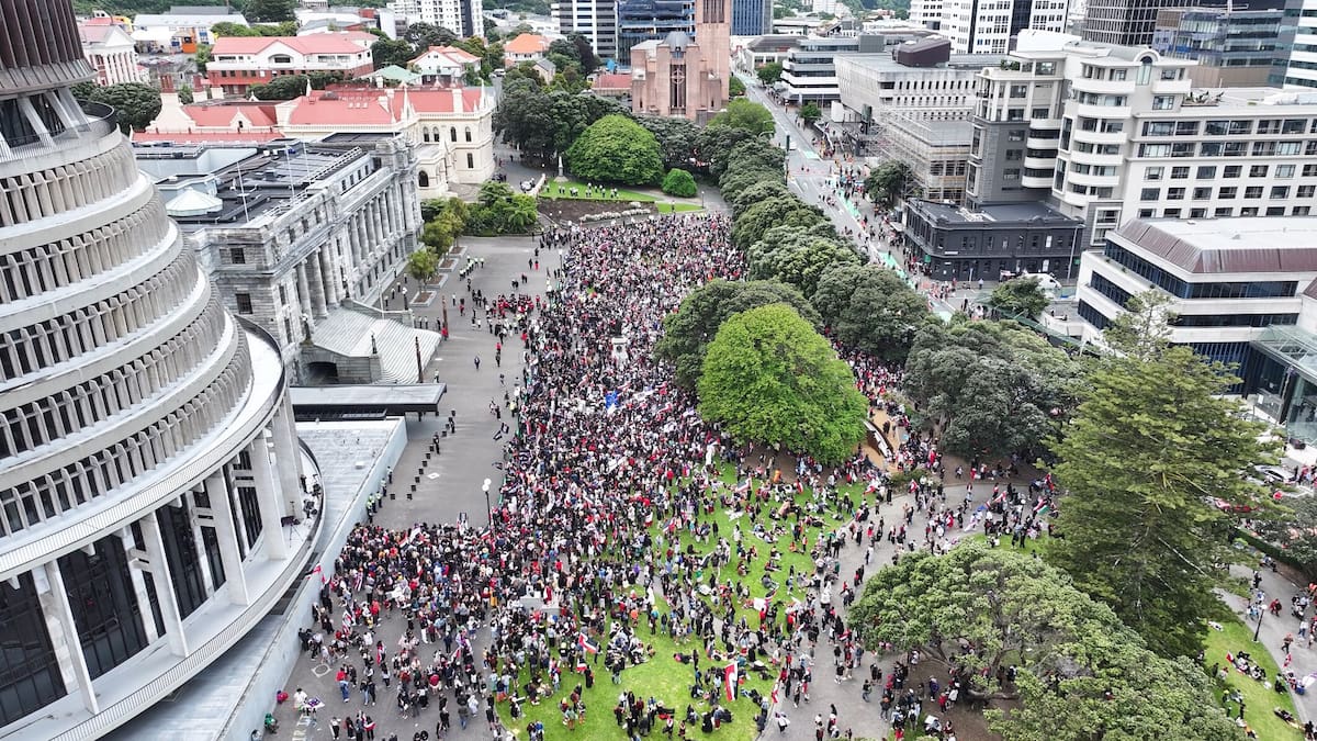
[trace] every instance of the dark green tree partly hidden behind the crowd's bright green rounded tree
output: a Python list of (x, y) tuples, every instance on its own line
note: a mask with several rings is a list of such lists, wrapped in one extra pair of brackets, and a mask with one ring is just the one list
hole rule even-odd
[(814, 327), (823, 326), (810, 302), (786, 283), (718, 278), (686, 294), (677, 312), (664, 318), (655, 355), (673, 364), (677, 385), (694, 390), (718, 327), (734, 314), (770, 303), (786, 303)]

